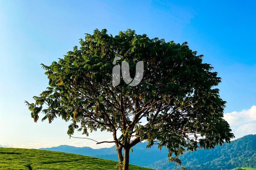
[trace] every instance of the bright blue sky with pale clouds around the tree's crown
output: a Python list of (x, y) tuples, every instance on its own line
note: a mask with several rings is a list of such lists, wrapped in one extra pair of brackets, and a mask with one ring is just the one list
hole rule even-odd
[[(237, 137), (256, 133), (255, 1), (4, 1), (0, 0), (0, 145), (96, 146), (69, 139), (69, 123), (34, 123), (24, 100), (40, 94), (49, 65), (79, 45), (84, 33), (127, 28), (150, 38), (187, 41), (222, 77), (225, 119)], [(76, 134), (80, 136), (79, 133)], [(92, 133), (96, 140), (110, 134)]]

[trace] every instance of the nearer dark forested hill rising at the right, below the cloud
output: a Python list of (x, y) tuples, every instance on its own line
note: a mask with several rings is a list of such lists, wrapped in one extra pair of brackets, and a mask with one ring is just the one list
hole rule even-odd
[[(188, 170), (221, 170), (235, 167), (256, 168), (256, 135), (247, 135), (231, 143), (225, 143), (210, 150), (186, 152), (180, 156), (183, 166)], [(167, 160), (160, 160), (148, 167), (171, 170), (172, 164)]]

